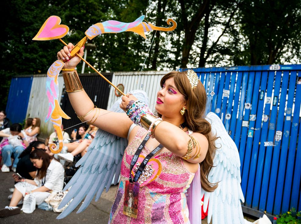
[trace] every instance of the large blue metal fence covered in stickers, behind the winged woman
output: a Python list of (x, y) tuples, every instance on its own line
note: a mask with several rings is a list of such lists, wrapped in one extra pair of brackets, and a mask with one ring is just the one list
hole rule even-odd
[[(301, 65), (195, 68), (239, 149), (244, 211), (301, 210)], [(299, 72), (300, 71), (300, 72)]]

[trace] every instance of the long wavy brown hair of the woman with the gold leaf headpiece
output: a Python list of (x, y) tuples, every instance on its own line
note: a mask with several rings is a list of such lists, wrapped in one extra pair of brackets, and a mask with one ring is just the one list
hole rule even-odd
[(202, 188), (205, 191), (212, 192), (218, 187), (217, 183), (210, 183), (208, 174), (213, 167), (213, 158), (216, 146), (214, 144), (217, 139), (211, 132), (211, 124), (205, 119), (205, 109), (207, 103), (207, 93), (204, 85), (199, 81), (195, 88), (191, 88), (191, 84), (187, 78), (186, 72), (172, 71), (161, 79), (161, 86), (168, 78), (174, 78), (175, 86), (184, 96), (187, 110), (184, 118), (187, 126), (193, 132), (198, 132), (206, 136), (209, 146), (205, 159), (200, 163), (200, 176)]

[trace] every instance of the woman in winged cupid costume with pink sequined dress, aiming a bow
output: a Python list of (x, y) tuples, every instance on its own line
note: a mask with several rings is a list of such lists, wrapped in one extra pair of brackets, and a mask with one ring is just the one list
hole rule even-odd
[[(72, 48), (69, 43), (59, 51), (58, 60), (68, 59)], [(95, 107), (76, 73), (79, 62), (73, 57), (62, 69), (66, 91), (78, 118), (99, 130), (65, 187), (72, 186), (59, 208), (73, 200), (58, 219), (86, 196), (83, 211), (120, 174), (109, 223), (200, 223), (204, 194), (208, 223), (211, 216), (213, 223), (244, 223), (238, 151), (218, 116), (204, 116), (207, 94), (194, 71), (161, 79), (156, 116), (143, 91), (123, 96), (115, 112)], [(129, 192), (137, 209), (128, 206)]]

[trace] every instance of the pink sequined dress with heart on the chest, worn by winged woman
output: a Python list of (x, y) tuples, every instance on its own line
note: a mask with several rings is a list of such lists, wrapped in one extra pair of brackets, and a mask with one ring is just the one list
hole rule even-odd
[[(153, 181), (148, 182), (148, 180), (146, 180), (144, 181), (145, 183), (140, 183), (137, 219), (128, 217), (122, 213), (125, 181), (129, 180), (130, 163), (138, 146), (142, 142), (142, 136), (146, 132), (145, 129), (140, 128), (133, 141), (129, 143), (125, 150), (121, 164), (119, 188), (111, 209), (109, 223), (189, 224), (189, 212), (185, 192), (187, 188), (189, 188), (194, 174), (187, 170), (182, 158), (174, 155), (172, 152), (159, 152), (158, 155), (153, 157), (160, 161), (162, 171)], [(151, 151), (145, 147), (141, 154), (147, 155), (150, 152)], [(152, 166), (151, 161), (148, 165), (147, 172), (150, 172), (154, 167), (150, 167)], [(135, 167), (136, 166), (134, 166), (134, 168)], [(147, 176), (147, 172), (144, 173), (145, 176)]]

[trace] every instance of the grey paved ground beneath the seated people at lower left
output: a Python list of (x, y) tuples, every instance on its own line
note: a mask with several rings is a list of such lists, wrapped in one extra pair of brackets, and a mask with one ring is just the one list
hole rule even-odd
[[(7, 196), (11, 193), (9, 188), (14, 187), (12, 179), (13, 172), (2, 173), (0, 171), (0, 208), (9, 205)], [(21, 213), (7, 218), (0, 218), (1, 224), (107, 224), (110, 214), (110, 209), (114, 201), (117, 186), (112, 186), (108, 193), (103, 193), (98, 202), (92, 201), (86, 210), (80, 214), (76, 211), (80, 205), (64, 219), (56, 219), (58, 213), (36, 209), (32, 214)], [(20, 206), (21, 207), (21, 206)], [(202, 220), (202, 224), (207, 223), (207, 219)]]

